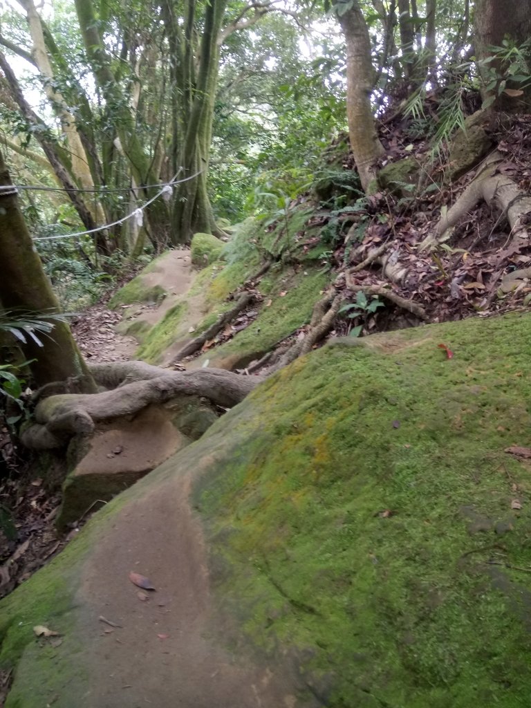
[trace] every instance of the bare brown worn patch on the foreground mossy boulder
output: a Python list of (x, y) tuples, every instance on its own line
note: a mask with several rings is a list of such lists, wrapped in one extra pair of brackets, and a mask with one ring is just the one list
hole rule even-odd
[[(91, 687), (80, 708), (295, 706), (283, 671), (235, 657), (212, 636), (215, 610), (189, 486), (189, 474), (174, 473), (128, 504), (84, 566), (78, 629)], [(142, 594), (130, 571), (156, 591)]]

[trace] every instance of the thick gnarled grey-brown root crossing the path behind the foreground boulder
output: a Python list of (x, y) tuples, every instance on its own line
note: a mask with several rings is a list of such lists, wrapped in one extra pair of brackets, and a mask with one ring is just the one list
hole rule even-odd
[[(98, 365), (98, 369), (100, 381), (118, 382), (118, 388), (99, 394), (62, 394), (42, 399), (35, 409), (36, 423), (21, 434), (23, 445), (40, 450), (63, 447), (74, 435), (92, 433), (98, 421), (132, 415), (150, 404), (164, 404), (183, 394), (202, 396), (216, 406), (232, 408), (262, 380), (223, 369), (167, 372), (143, 362)], [(139, 376), (141, 372), (144, 379), (125, 383), (128, 376)]]

